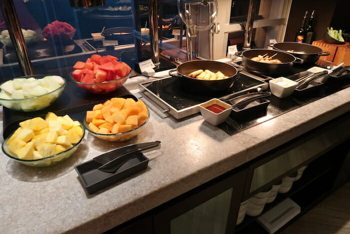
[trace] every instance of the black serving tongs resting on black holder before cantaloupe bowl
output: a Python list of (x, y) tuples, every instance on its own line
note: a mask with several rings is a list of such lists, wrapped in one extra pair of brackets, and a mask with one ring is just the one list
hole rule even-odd
[(139, 152), (145, 153), (151, 150), (159, 149), (160, 141), (153, 141), (147, 143), (140, 143), (134, 145), (124, 146), (115, 150), (111, 150), (97, 157), (93, 160), (102, 164), (97, 169), (107, 173), (114, 173), (117, 171), (125, 162), (133, 157), (136, 157)]

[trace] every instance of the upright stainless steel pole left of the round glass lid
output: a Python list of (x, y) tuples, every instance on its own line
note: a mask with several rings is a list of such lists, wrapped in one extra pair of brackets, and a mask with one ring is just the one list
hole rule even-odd
[(149, 0), (149, 24), (150, 24), (150, 49), (152, 62), (155, 66), (159, 65), (159, 15), (158, 0)]

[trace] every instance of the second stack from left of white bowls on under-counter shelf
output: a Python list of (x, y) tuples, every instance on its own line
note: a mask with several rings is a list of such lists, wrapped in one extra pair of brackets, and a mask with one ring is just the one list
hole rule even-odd
[(248, 206), (246, 208), (246, 214), (250, 216), (259, 215), (262, 212), (267, 199), (269, 198), (271, 189), (272, 189), (272, 186), (250, 197), (248, 200)]

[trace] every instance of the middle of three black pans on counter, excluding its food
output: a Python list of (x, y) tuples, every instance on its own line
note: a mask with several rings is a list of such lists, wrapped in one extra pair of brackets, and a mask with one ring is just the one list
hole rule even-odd
[[(282, 63), (270, 64), (262, 63), (251, 60), (251, 58), (257, 57), (258, 55), (273, 56), (273, 59), (278, 59)], [(291, 54), (282, 51), (266, 50), (266, 49), (251, 49), (243, 52), (236, 52), (237, 56), (242, 57), (242, 66), (252, 72), (265, 75), (283, 75), (288, 74), (291, 71), (293, 64), (300, 64), (303, 62), (302, 59), (295, 58)]]

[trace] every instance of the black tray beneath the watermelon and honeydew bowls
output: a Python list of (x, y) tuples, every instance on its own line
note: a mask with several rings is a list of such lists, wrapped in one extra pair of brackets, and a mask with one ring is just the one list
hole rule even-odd
[(67, 82), (62, 94), (50, 106), (33, 112), (20, 112), (3, 107), (2, 136), (6, 139), (18, 128), (18, 123), (34, 117), (45, 117), (47, 112), (54, 112), (56, 115), (69, 115), (75, 120), (82, 121), (85, 111), (92, 109), (95, 104), (114, 98), (137, 98), (130, 94), (123, 86), (109, 94), (92, 94), (75, 86), (73, 82)]

